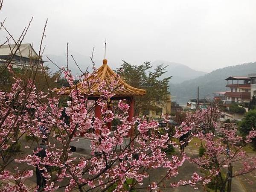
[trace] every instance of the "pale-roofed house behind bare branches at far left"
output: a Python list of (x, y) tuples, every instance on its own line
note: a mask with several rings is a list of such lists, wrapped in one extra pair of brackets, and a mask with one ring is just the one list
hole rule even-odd
[(35, 52), (31, 44), (21, 44), (15, 53), (16, 49), (16, 44), (2, 45), (0, 47), (0, 65), (6, 64), (10, 60), (12, 60), (13, 67), (45, 62), (40, 60), (39, 55)]

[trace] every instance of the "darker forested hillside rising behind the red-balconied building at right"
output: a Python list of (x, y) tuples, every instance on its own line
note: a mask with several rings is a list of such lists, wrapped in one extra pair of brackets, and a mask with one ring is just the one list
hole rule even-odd
[(173, 100), (184, 103), (189, 98), (197, 97), (197, 87), (199, 86), (199, 97), (201, 99), (213, 96), (212, 93), (225, 91), (227, 82), (224, 80), (229, 76), (247, 76), (248, 73), (256, 72), (256, 62), (224, 67), (179, 84), (170, 84), (169, 90)]

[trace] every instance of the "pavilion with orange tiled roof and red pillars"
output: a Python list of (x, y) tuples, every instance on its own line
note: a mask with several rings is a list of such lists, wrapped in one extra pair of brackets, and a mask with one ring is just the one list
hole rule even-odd
[[(101, 97), (98, 91), (98, 88), (102, 81), (105, 81), (106, 84), (108, 85), (112, 81), (118, 80), (117, 87), (116, 89), (113, 90), (113, 93), (115, 93), (115, 95), (111, 98), (111, 100), (126, 99), (128, 101), (128, 104), (129, 104), (128, 120), (131, 121), (134, 116), (134, 96), (145, 96), (146, 90), (138, 89), (127, 84), (123, 79), (118, 77), (113, 70), (111, 70), (111, 68), (108, 66), (107, 63), (108, 63), (107, 59), (103, 59), (103, 64), (101, 67), (98, 68), (96, 74), (94, 76), (89, 77), (89, 79), (93, 78), (94, 80), (93, 81), (94, 83), (90, 86), (90, 91), (88, 90), (88, 87), (83, 87), (82, 82), (79, 82), (76, 85), (76, 87), (75, 86), (71, 87), (71, 89), (77, 88), (89, 100), (96, 101)], [(86, 81), (86, 80), (88, 79), (84, 79), (83, 81)], [(58, 89), (58, 90), (61, 90), (61, 89)], [(92, 90), (93, 90), (93, 93), (92, 93)], [(89, 94), (89, 92), (92, 94)], [(69, 95), (70, 87), (64, 88), (64, 90), (62, 90), (62, 94)], [(97, 104), (95, 106), (95, 117), (101, 118), (101, 106)], [(129, 136), (132, 135), (132, 132), (133, 131), (129, 132)]]

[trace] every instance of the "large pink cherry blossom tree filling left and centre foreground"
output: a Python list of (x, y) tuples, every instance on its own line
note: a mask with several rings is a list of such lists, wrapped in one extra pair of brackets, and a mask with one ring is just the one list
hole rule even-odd
[[(13, 73), (12, 68), (9, 70)], [(162, 134), (159, 134), (156, 121), (147, 122), (145, 119), (128, 121), (129, 106), (125, 100), (119, 100), (116, 105), (111, 105), (110, 98), (114, 96), (113, 90), (116, 89), (118, 80), (112, 81), (111, 84), (101, 81), (99, 86), (101, 98), (97, 100), (97, 105), (102, 107), (102, 118), (96, 118), (93, 117), (96, 102), (84, 99), (79, 89), (72, 88), (74, 78), (68, 69), (64, 68), (63, 73), (70, 87), (69, 100), (65, 108), (59, 105), (61, 94), (52, 96), (49, 90), (39, 91), (31, 79), (16, 79), (12, 84), (11, 92), (0, 92), (0, 134), (2, 136), (0, 137), (0, 154), (3, 159), (0, 164), (0, 177), (3, 180), (14, 179), (17, 182), (12, 190), (32, 190), (19, 181), (21, 177), (26, 180), (33, 175), (32, 169), (21, 171), (17, 168), (19, 172), (9, 172), (6, 165), (13, 160), (34, 167), (40, 166), (42, 170), (52, 166), (58, 167), (54, 178), (49, 172), (44, 172), (44, 177), (48, 178), (45, 191), (54, 191), (60, 187), (65, 187), (66, 192), (74, 189), (84, 191), (85, 188), (108, 190), (114, 184), (117, 191), (126, 190), (127, 187), (132, 191), (147, 179), (148, 169), (163, 167), (167, 169), (166, 178), (178, 174), (177, 169), (183, 165), (186, 157), (184, 155), (179, 157), (173, 155), (172, 158), (166, 156), (164, 150), (169, 145), (176, 146), (170, 140), (167, 128), (162, 128)], [(83, 79), (91, 76), (94, 74), (86, 74)], [(93, 83), (93, 80), (90, 81), (89, 86), (93, 86)], [(116, 111), (115, 115), (113, 111)], [(118, 119), (118, 124), (117, 129), (111, 133), (107, 125), (114, 118)], [(119, 146), (125, 142), (124, 138), (131, 137), (129, 134), (135, 123), (138, 125), (132, 137), (133, 140), (120, 149)], [(45, 140), (46, 134), (50, 133), (53, 143), (47, 142), (45, 158), (38, 157), (37, 152), (22, 158), (13, 155), (3, 156), (3, 151), (6, 151), (13, 141), (18, 142), (23, 135)], [(92, 158), (90, 159), (74, 158), (70, 151), (70, 142), (75, 135), (81, 134), (91, 140)], [(40, 146), (38, 148), (40, 149)], [(64, 178), (69, 183), (60, 186)], [(127, 183), (128, 178), (133, 179), (131, 185)], [(195, 181), (192, 178), (191, 181), (169, 185), (187, 185)], [(150, 188), (152, 190), (161, 188), (163, 187), (161, 183), (162, 180), (151, 181)], [(9, 188), (8, 182), (2, 186), (3, 190)]]

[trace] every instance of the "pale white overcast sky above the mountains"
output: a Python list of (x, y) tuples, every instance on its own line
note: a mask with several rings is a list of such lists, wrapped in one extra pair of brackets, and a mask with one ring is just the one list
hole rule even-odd
[[(70, 49), (119, 65), (166, 60), (210, 72), (256, 61), (256, 0), (4, 0), (0, 20), (36, 50), (48, 18), (45, 53)], [(0, 43), (5, 39), (0, 33)], [(100, 65), (100, 64), (97, 64)]]

